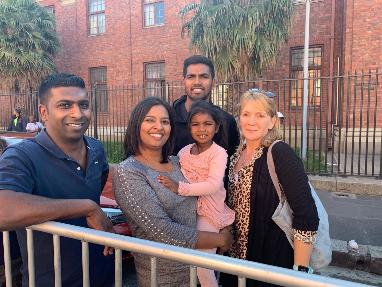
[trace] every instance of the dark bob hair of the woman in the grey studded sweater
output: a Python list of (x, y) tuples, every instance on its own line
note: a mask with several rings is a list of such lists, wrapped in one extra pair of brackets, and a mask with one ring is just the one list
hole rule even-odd
[(167, 142), (162, 147), (162, 161), (160, 163), (167, 163), (168, 156), (172, 155), (175, 146), (175, 119), (174, 112), (170, 105), (160, 98), (149, 97), (142, 99), (131, 113), (129, 124), (125, 132), (125, 139), (123, 140), (123, 150), (125, 152), (125, 159), (132, 155), (139, 155), (139, 147), (142, 145), (141, 140), (141, 125), (147, 113), (153, 106), (163, 106), (168, 112), (170, 118), (170, 136)]

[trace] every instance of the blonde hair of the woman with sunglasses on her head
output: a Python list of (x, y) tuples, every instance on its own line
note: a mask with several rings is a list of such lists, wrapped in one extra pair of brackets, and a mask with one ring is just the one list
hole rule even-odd
[(237, 105), (239, 111), (238, 127), (240, 130), (240, 144), (238, 150), (241, 150), (244, 146), (244, 136), (241, 132), (240, 126), (240, 115), (241, 111), (243, 111), (243, 107), (248, 102), (253, 102), (253, 104), (259, 104), (265, 110), (265, 112), (270, 115), (271, 118), (276, 117), (274, 126), (261, 140), (261, 145), (263, 145), (264, 147), (269, 147), (272, 144), (272, 142), (282, 138), (282, 136), (280, 135), (280, 118), (277, 115), (275, 102), (273, 99), (265, 96), (262, 93), (249, 93), (249, 91), (246, 91), (243, 95), (241, 95), (240, 101)]

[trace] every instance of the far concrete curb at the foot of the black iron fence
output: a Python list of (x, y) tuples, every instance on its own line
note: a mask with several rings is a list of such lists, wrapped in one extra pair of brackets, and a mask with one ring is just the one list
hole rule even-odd
[(379, 179), (317, 175), (308, 178), (314, 189), (382, 196), (382, 180)]

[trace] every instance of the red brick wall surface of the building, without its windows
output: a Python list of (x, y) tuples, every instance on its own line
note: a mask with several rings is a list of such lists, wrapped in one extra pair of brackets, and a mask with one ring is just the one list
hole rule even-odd
[[(194, 0), (164, 0), (165, 23), (162, 26), (144, 28), (142, 22), (142, 0), (105, 1), (106, 33), (89, 36), (87, 27), (87, 7), (85, 0), (41, 0), (44, 6), (55, 5), (58, 18), (57, 32), (62, 37), (63, 54), (56, 63), (60, 72), (73, 72), (83, 77), (89, 86), (89, 68), (107, 67), (107, 83), (109, 86), (131, 86), (144, 82), (144, 63), (165, 62), (165, 76), (168, 81), (177, 81), (182, 78), (183, 60), (190, 55), (188, 41), (180, 38), (181, 21), (178, 16), (185, 5), (194, 3)], [(264, 79), (290, 77), (290, 48), (304, 46), (305, 3), (296, 5), (298, 13), (293, 25), (293, 34), (288, 44), (282, 48), (278, 57), (278, 65), (264, 73)], [(340, 71), (350, 70), (354, 73), (362, 67), (376, 68), (380, 65), (382, 48), (382, 2), (380, 0), (335, 0), (335, 30), (333, 71), (337, 72), (339, 60)], [(330, 29), (331, 29), (332, 0), (323, 0), (311, 3), (309, 45), (322, 46), (322, 73), (327, 76), (330, 69)], [(191, 18), (191, 13), (189, 15)], [(186, 20), (188, 18), (186, 17)], [(193, 52), (191, 52), (193, 54)], [(382, 80), (379, 80), (382, 82)], [(299, 125), (301, 109), (292, 108), (289, 104), (290, 82), (267, 88), (274, 89), (280, 94), (280, 110), (291, 114), (287, 125)], [(332, 82), (330, 82), (333, 85)], [(310, 109), (310, 122), (331, 122), (327, 118), (327, 107), (335, 103), (328, 103), (327, 80), (324, 80), (322, 89), (322, 109)], [(284, 90), (285, 89), (285, 90)], [(382, 87), (379, 87), (381, 91)], [(353, 90), (349, 90), (351, 93)], [(348, 90), (344, 90), (344, 95)], [(181, 94), (181, 88), (178, 91)], [(283, 95), (287, 98), (284, 100)], [(119, 101), (119, 92), (113, 94), (115, 101)], [(301, 96), (301, 95), (300, 95)], [(175, 95), (175, 98), (178, 96)], [(138, 92), (131, 92), (123, 96), (121, 104), (115, 106), (128, 106), (128, 110), (141, 98)], [(358, 96), (358, 98), (360, 98)], [(380, 97), (379, 97), (380, 98)], [(340, 111), (345, 111), (347, 98), (343, 98)], [(285, 102), (285, 104), (284, 104)], [(351, 100), (350, 100), (351, 102)], [(358, 103), (360, 105), (361, 103)], [(279, 105), (277, 103), (277, 105)], [(378, 106), (382, 103), (378, 102)], [(330, 110), (329, 108), (329, 110)], [(335, 107), (337, 110), (337, 108)], [(356, 114), (359, 114), (357, 111)], [(378, 124), (382, 115), (377, 111)], [(314, 116), (315, 115), (315, 116)], [(285, 115), (287, 116), (287, 115)], [(342, 115), (343, 116), (343, 115)], [(346, 118), (342, 118), (345, 122)], [(358, 118), (358, 121), (360, 119)]]

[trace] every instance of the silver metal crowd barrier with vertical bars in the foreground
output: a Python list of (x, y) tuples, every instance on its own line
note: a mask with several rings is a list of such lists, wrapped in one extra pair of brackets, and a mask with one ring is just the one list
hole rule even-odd
[[(238, 287), (246, 286), (246, 278), (286, 287), (361, 287), (364, 284), (307, 274), (282, 267), (266, 265), (216, 254), (204, 253), (178, 246), (157, 243), (59, 222), (32, 225), (27, 230), (29, 286), (35, 287), (33, 230), (53, 234), (55, 287), (61, 287), (60, 236), (82, 241), (83, 286), (89, 287), (89, 242), (115, 248), (115, 287), (122, 286), (121, 250), (151, 256), (151, 287), (157, 287), (157, 258), (168, 259), (190, 266), (190, 287), (197, 286), (197, 269), (203, 267), (239, 277)], [(11, 287), (11, 259), (8, 232), (3, 232), (6, 286)]]

